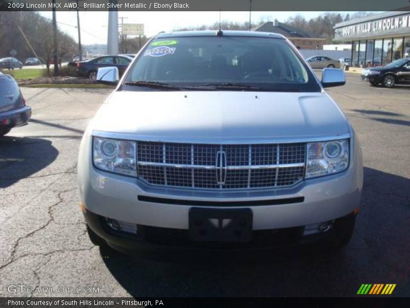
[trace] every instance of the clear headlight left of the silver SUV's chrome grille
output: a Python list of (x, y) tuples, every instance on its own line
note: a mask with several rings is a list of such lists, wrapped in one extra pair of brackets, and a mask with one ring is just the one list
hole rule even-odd
[(135, 142), (93, 137), (93, 162), (98, 169), (135, 177)]

